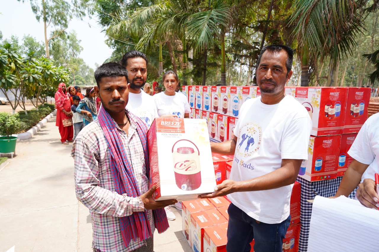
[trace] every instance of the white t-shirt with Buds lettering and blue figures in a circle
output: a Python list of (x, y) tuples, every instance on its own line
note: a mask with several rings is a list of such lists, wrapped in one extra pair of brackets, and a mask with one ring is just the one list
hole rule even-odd
[[(308, 159), (312, 121), (292, 96), (278, 104), (262, 103), (260, 96), (247, 100), (233, 131), (238, 137), (230, 179), (248, 180), (281, 167), (282, 159)], [(291, 185), (232, 193), (234, 205), (257, 221), (280, 223), (290, 215)]]

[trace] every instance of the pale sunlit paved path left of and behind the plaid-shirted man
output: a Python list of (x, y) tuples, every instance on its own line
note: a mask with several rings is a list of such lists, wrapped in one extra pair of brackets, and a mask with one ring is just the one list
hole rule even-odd
[[(16, 156), (0, 171), (0, 252), (89, 252), (91, 217), (74, 191), (71, 145), (62, 145), (55, 117), (34, 137), (17, 141)], [(9, 156), (10, 157), (10, 156)], [(191, 252), (181, 211), (154, 235), (155, 252)]]

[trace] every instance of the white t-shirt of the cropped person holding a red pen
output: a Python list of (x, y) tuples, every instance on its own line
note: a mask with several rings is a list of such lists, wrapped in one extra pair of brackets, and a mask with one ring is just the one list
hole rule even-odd
[(379, 173), (379, 113), (371, 115), (363, 124), (348, 154), (358, 162), (369, 165), (361, 182), (364, 179), (375, 180), (375, 173)]

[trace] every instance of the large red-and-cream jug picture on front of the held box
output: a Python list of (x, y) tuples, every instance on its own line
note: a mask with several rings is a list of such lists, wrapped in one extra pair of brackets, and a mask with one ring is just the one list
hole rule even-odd
[[(185, 146), (174, 150), (175, 145), (180, 141), (186, 141)], [(196, 149), (188, 147), (189, 143)], [(176, 185), (185, 191), (199, 188), (201, 185), (199, 148), (193, 142), (181, 139), (172, 146), (172, 160), (174, 163)]]

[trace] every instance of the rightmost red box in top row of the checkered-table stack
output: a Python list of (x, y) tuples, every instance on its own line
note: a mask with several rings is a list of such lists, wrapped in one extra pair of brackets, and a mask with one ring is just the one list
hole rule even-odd
[(344, 134), (359, 132), (363, 123), (367, 120), (368, 103), (371, 96), (369, 87), (348, 87), (347, 89), (348, 98), (346, 101)]

